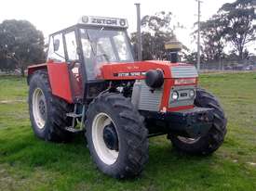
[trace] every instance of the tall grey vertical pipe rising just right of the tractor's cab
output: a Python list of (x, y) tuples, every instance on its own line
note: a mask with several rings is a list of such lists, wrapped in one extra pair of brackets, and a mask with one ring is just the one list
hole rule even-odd
[(137, 9), (137, 51), (138, 61), (142, 60), (142, 48), (141, 48), (141, 4), (134, 4)]

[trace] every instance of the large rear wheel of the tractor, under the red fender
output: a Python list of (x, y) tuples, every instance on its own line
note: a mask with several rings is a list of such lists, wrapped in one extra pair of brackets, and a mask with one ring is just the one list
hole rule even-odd
[(66, 113), (73, 107), (51, 94), (46, 70), (35, 71), (29, 84), (29, 111), (34, 134), (47, 141), (70, 141), (73, 134), (64, 128), (71, 125)]

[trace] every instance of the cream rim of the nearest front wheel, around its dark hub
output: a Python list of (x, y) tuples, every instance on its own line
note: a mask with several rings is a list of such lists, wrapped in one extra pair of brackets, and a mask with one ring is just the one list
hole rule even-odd
[(108, 146), (106, 146), (103, 138), (104, 128), (112, 123), (115, 127), (114, 121), (105, 113), (99, 113), (92, 122), (91, 135), (94, 148), (99, 158), (107, 165), (114, 164), (119, 155), (119, 150), (110, 149)]

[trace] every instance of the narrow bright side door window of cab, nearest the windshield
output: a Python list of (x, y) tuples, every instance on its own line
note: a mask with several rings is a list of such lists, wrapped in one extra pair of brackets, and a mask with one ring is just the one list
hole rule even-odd
[(68, 59), (69, 60), (78, 59), (79, 57), (76, 52), (77, 45), (76, 45), (76, 40), (75, 40), (75, 33), (74, 32), (66, 33), (65, 41), (66, 41), (66, 46), (67, 46)]

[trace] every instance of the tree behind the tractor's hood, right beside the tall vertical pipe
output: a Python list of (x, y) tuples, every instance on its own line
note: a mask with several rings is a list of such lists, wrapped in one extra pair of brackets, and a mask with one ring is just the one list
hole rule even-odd
[[(141, 19), (142, 59), (166, 58), (165, 43), (175, 38), (170, 12), (157, 12), (154, 16)], [(178, 25), (178, 27), (181, 27)], [(131, 33), (131, 42), (137, 44), (136, 32)]]

